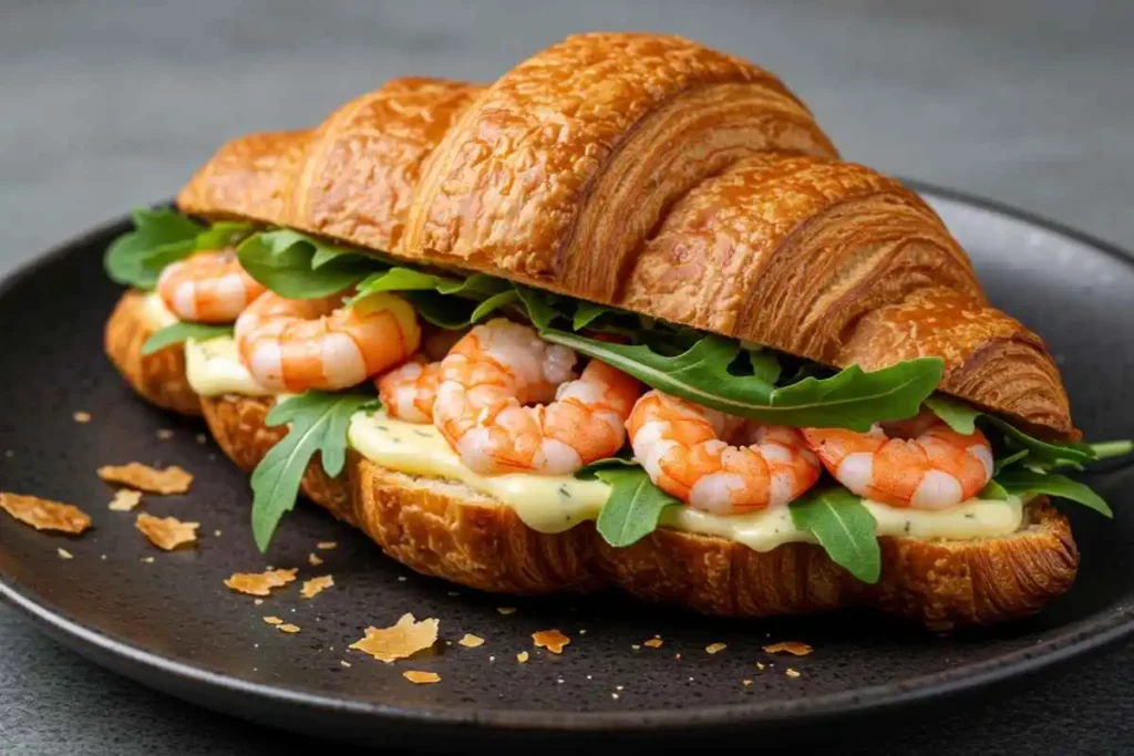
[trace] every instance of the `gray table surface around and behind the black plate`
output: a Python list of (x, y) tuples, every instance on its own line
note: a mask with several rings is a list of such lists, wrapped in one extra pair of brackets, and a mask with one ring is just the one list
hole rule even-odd
[[(1134, 3), (0, 2), (0, 274), (171, 195), (223, 139), (388, 77), (491, 79), (562, 35), (678, 32), (779, 73), (844, 155), (1134, 247)], [(0, 544), (2, 547), (2, 544)], [(1117, 753), (1134, 648), (871, 753)], [(0, 754), (257, 754), (295, 739), (92, 665), (0, 608)]]

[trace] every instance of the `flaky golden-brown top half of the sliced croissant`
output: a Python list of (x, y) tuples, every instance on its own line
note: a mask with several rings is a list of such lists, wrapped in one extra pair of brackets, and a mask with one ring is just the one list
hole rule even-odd
[(566, 39), (491, 85), (400, 78), (223, 146), (177, 204), (481, 271), (832, 367), (941, 357), (941, 390), (1077, 438), (1043, 341), (940, 218), (840, 160), (772, 74), (688, 40)]

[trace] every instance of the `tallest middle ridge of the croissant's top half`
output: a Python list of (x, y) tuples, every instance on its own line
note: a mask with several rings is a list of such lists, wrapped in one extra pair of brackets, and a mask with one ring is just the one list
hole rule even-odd
[(498, 79), (446, 136), (406, 246), (609, 303), (666, 207), (769, 148), (837, 154), (751, 63), (676, 36), (572, 36)]

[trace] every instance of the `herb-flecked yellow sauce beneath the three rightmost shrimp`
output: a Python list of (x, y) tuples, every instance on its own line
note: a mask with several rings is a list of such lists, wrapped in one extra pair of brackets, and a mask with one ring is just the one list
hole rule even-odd
[[(570, 476), (482, 476), (462, 464), (448, 442), (432, 425), (390, 419), (382, 411), (356, 415), (348, 431), (350, 445), (371, 461), (390, 469), (425, 477), (464, 483), (496, 496), (521, 520), (540, 533), (559, 533), (585, 519), (596, 519), (609, 487), (600, 481)], [(1019, 529), (1023, 506), (1008, 501), (972, 500), (941, 511), (897, 509), (864, 502), (874, 516), (879, 535), (909, 535), (916, 538), (965, 540), (995, 537)], [(671, 507), (661, 524), (679, 530), (737, 541), (756, 551), (770, 551), (813, 536), (792, 524), (787, 508), (723, 517), (691, 507)]]

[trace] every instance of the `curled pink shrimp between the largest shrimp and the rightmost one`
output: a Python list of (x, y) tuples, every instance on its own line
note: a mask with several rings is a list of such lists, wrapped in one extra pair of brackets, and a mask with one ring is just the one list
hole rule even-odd
[(797, 430), (730, 417), (660, 391), (638, 399), (626, 427), (634, 458), (658, 487), (716, 515), (782, 507), (821, 472)]

